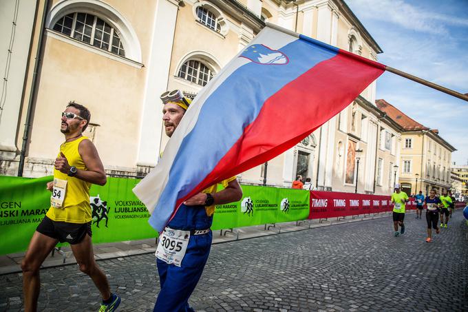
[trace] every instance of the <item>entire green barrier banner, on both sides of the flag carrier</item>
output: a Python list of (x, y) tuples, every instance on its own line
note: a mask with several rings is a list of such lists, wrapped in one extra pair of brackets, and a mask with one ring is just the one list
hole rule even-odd
[[(25, 251), (39, 222), (50, 207), (45, 188), (52, 176), (0, 176), (0, 255)], [(140, 180), (107, 178), (105, 186), (92, 185), (93, 242), (121, 242), (156, 238), (145, 205), (131, 189)], [(243, 185), (239, 202), (216, 207), (212, 229), (231, 229), (265, 223), (304, 220), (309, 215), (309, 191)]]

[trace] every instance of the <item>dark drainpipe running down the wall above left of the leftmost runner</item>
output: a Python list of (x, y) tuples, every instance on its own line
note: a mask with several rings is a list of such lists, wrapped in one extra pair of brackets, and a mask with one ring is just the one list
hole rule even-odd
[[(34, 61), (34, 72), (32, 74), (32, 83), (30, 90), (30, 98), (28, 101), (28, 112), (26, 113), (26, 121), (23, 133), (23, 144), (21, 145), (21, 154), (19, 156), (18, 176), (23, 176), (24, 160), (26, 157), (26, 148), (28, 147), (29, 132), (31, 127), (33, 101), (36, 97), (36, 82), (39, 65), (41, 64), (41, 51), (43, 48), (43, 37), (45, 30), (45, 18), (47, 17), (47, 8), (49, 8), (49, 0), (45, 0), (44, 9), (42, 12), (41, 31), (39, 32), (39, 40), (37, 42), (36, 61)], [(33, 30), (34, 34), (34, 30)]]

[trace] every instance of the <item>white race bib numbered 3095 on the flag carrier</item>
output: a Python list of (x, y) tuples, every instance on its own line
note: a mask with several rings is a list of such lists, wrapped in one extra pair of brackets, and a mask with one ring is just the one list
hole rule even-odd
[(180, 231), (167, 227), (159, 238), (155, 256), (167, 264), (180, 267), (189, 245), (190, 231)]

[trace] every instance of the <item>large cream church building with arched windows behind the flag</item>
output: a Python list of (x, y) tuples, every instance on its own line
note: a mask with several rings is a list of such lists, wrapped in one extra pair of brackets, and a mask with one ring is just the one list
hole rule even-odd
[[(24, 176), (52, 174), (60, 112), (76, 101), (92, 112), (87, 135), (107, 174), (145, 175), (167, 143), (159, 95), (195, 96), (263, 21), (374, 61), (382, 52), (342, 0), (40, 0), (21, 8), (16, 30), (14, 3), (1, 2), (2, 38), (21, 38), (10, 49), (17, 63), (2, 104), (1, 174), (16, 175), (22, 160)], [(359, 192), (388, 194), (401, 136), (374, 100), (375, 82), (296, 147), (240, 174), (241, 182), (289, 187), (302, 174), (318, 189), (357, 184)]]

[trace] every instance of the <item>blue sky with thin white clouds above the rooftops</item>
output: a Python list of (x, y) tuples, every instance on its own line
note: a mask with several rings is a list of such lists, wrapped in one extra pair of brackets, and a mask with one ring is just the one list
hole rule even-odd
[[(468, 93), (468, 0), (345, 0), (379, 43), (379, 62)], [(385, 72), (376, 98), (439, 129), (467, 165), (468, 102)]]

